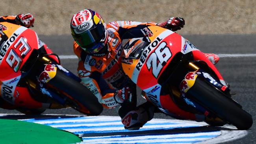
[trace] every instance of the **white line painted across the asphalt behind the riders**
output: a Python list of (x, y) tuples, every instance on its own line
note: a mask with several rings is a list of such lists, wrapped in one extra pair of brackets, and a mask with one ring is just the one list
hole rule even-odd
[[(256, 54), (217, 54), (219, 57), (256, 57)], [(78, 59), (76, 55), (59, 55), (60, 59)]]

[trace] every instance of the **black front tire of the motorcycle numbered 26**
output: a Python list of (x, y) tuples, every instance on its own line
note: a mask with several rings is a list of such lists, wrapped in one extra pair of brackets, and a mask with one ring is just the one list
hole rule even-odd
[(222, 120), (233, 124), (237, 129), (244, 130), (252, 126), (252, 116), (208, 81), (197, 77), (195, 84), (187, 93), (191, 96), (191, 99)]

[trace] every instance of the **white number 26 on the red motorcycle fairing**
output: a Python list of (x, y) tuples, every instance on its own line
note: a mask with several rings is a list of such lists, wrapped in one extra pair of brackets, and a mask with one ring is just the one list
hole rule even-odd
[(170, 49), (167, 47), (166, 42), (161, 42), (158, 48), (156, 48), (155, 52), (153, 52), (147, 60), (147, 68), (150, 70), (152, 68), (152, 74), (155, 78), (158, 78), (160, 74), (163, 63), (167, 63), (167, 61), (172, 57), (172, 53)]

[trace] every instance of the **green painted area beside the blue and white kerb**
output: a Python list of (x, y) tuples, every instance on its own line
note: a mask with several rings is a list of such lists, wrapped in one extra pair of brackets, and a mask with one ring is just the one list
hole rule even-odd
[(77, 135), (58, 128), (0, 119), (1, 144), (75, 144), (81, 141)]

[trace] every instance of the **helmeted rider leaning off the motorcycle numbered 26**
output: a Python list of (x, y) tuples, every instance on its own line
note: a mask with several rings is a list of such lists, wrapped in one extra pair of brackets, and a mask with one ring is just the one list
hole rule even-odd
[[(79, 58), (77, 71), (81, 83), (95, 94), (105, 108), (117, 107), (125, 129), (139, 129), (153, 118), (157, 109), (149, 102), (136, 106), (136, 85), (121, 67), (124, 55), (122, 40), (127, 39), (123, 36), (133, 29), (141, 29), (150, 35), (147, 26), (155, 25), (176, 31), (183, 28), (185, 20), (171, 17), (161, 23), (115, 21), (106, 24), (98, 13), (84, 9), (74, 14), (70, 22), (74, 53)], [(137, 36), (134, 33), (132, 37)], [(208, 54), (208, 58), (214, 64), (219, 61), (214, 54)]]

